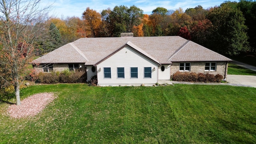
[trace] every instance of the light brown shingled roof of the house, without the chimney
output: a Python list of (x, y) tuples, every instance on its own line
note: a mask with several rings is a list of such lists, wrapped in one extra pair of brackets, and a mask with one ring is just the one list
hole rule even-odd
[(85, 63), (95, 65), (124, 46), (134, 48), (159, 64), (193, 61), (231, 61), (180, 36), (80, 38), (32, 63)]

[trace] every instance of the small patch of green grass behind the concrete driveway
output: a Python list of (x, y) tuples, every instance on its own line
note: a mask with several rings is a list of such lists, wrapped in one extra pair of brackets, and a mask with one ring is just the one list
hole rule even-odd
[(236, 64), (228, 64), (228, 74), (256, 76), (255, 71), (238, 66)]

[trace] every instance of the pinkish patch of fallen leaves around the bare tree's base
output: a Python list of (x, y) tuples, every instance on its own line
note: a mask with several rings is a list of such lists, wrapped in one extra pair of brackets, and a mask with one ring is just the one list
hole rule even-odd
[(52, 92), (34, 94), (22, 100), (21, 105), (11, 105), (8, 108), (7, 113), (12, 118), (24, 118), (28, 116), (35, 116), (55, 98), (56, 96)]

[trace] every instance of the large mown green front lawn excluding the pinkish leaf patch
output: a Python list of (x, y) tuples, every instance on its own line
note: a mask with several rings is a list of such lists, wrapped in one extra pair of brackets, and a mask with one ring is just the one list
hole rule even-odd
[(54, 84), (21, 98), (39, 92), (58, 98), (33, 118), (12, 119), (0, 103), (0, 143), (256, 143), (256, 88)]

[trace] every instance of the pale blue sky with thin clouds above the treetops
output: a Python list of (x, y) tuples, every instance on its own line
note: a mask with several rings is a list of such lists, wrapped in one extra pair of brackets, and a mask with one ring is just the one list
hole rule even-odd
[(142, 9), (144, 14), (151, 14), (152, 10), (157, 7), (163, 7), (167, 10), (176, 10), (179, 7), (185, 11), (187, 8), (195, 8), (201, 5), (204, 9), (219, 6), (224, 0), (45, 0), (44, 4), (53, 4), (50, 14), (58, 18), (66, 18), (67, 16), (77, 16), (81, 18), (82, 13), (87, 7), (101, 12), (107, 8), (113, 9), (115, 6), (135, 5)]

